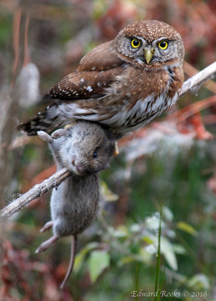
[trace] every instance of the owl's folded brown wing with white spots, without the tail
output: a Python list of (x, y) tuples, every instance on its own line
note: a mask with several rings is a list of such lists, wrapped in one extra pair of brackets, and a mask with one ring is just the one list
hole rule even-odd
[(50, 90), (51, 98), (76, 100), (99, 98), (123, 71), (123, 61), (111, 52), (111, 42), (95, 47), (82, 58), (79, 67)]

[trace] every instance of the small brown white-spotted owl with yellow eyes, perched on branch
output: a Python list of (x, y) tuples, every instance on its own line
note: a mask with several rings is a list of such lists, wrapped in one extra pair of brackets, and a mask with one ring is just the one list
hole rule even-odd
[(45, 95), (53, 102), (17, 130), (49, 133), (85, 119), (120, 137), (176, 102), (184, 81), (183, 61), (184, 45), (173, 27), (157, 20), (136, 21), (86, 54), (77, 70)]

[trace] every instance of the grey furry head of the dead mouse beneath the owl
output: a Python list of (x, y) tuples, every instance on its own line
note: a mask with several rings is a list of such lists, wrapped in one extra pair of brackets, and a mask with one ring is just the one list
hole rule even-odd
[(82, 175), (109, 166), (116, 152), (116, 137), (112, 132), (90, 121), (78, 121), (67, 131), (67, 141), (61, 147), (65, 167)]

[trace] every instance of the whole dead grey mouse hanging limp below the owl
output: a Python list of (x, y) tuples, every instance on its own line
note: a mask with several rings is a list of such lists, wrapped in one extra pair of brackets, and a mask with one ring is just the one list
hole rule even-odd
[[(115, 135), (97, 123), (78, 121), (52, 136), (43, 131), (38, 135), (49, 143), (57, 171), (66, 167), (71, 176), (51, 195), (51, 217), (40, 230), (53, 228), (53, 236), (43, 242), (35, 253), (44, 252), (60, 237), (72, 235), (71, 257), (66, 276), (68, 280), (76, 254), (77, 234), (96, 219), (100, 201), (99, 172), (109, 166), (111, 157), (118, 153)], [(55, 137), (56, 139), (53, 139)]]

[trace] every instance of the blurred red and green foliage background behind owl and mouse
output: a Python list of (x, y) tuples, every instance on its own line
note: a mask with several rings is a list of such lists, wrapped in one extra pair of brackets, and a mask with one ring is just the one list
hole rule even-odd
[[(0, 1), (2, 208), (55, 172), (47, 145), (14, 127), (47, 105), (41, 96), (76, 70), (88, 51), (144, 19), (166, 22), (181, 34), (186, 79), (216, 61), (214, 0)], [(98, 220), (79, 236), (74, 271), (64, 290), (59, 285), (69, 263), (70, 237), (34, 253), (50, 237), (39, 234), (50, 219), (50, 193), (3, 222), (0, 299), (126, 301), (135, 299), (136, 290), (154, 292), (162, 205), (166, 293), (161, 299), (215, 300), (215, 92), (216, 83), (209, 80), (161, 118), (119, 141), (120, 154), (101, 174), (104, 197)], [(175, 290), (179, 295), (172, 295)], [(188, 296), (182, 295), (185, 290)]]

